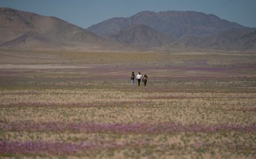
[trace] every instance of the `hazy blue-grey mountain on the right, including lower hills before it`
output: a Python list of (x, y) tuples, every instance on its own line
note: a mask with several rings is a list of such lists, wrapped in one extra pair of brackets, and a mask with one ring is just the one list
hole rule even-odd
[(129, 18), (112, 18), (89, 31), (108, 40), (135, 46), (246, 50), (256, 48), (255, 28), (194, 11), (143, 11)]

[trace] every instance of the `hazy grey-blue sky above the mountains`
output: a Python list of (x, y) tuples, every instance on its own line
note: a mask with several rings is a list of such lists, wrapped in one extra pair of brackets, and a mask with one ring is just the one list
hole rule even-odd
[(256, 27), (256, 0), (0, 0), (0, 6), (56, 16), (82, 28), (145, 10), (199, 11)]

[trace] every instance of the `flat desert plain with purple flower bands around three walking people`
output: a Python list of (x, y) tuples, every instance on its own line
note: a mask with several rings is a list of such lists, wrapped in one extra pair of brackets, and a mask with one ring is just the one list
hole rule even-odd
[(256, 157), (255, 54), (0, 53), (0, 158)]

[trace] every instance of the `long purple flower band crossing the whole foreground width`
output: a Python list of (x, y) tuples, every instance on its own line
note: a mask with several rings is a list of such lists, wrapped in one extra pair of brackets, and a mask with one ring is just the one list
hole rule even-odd
[(138, 134), (154, 134), (154, 133), (172, 133), (172, 132), (216, 132), (216, 131), (241, 131), (255, 132), (256, 125), (249, 126), (233, 125), (233, 124), (216, 124), (203, 126), (198, 124), (177, 124), (177, 123), (136, 123), (136, 124), (100, 124), (100, 123), (58, 123), (58, 122), (17, 122), (17, 123), (1, 123), (0, 128), (6, 131), (72, 131), (72, 132), (112, 132), (112, 133), (138, 133)]

